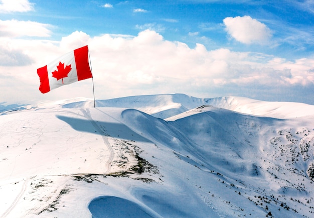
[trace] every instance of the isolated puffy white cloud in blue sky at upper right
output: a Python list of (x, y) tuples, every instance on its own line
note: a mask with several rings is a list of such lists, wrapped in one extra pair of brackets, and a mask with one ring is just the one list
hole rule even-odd
[(271, 30), (250, 16), (226, 17), (224, 20), (227, 32), (237, 41), (245, 44), (265, 43), (272, 36)]

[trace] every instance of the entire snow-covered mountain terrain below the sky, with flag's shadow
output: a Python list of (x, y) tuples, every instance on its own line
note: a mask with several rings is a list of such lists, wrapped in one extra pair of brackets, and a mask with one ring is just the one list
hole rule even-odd
[(160, 94), (0, 116), (4, 217), (312, 217), (314, 105)]

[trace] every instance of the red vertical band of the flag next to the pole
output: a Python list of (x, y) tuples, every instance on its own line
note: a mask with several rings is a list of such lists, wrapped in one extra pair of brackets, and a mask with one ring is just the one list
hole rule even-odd
[(93, 77), (88, 62), (88, 46), (80, 47), (74, 50), (74, 58), (77, 71), (77, 79), (83, 80)]

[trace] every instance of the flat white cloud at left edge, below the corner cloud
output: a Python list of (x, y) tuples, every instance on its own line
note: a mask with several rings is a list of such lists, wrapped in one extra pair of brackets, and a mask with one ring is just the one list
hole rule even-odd
[(52, 25), (34, 22), (34, 21), (20, 21), (0, 20), (0, 37), (19, 37), (19, 36), (50, 36)]

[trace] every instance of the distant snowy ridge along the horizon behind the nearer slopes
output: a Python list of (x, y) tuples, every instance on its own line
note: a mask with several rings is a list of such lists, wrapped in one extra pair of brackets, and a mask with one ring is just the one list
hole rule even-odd
[[(158, 94), (96, 100), (99, 107), (135, 108), (159, 118), (185, 112), (201, 105), (212, 105), (251, 115), (292, 118), (314, 115), (314, 105), (299, 102), (261, 101), (246, 97), (197, 98), (186, 94)], [(64, 107), (91, 107), (92, 100), (65, 104)]]

